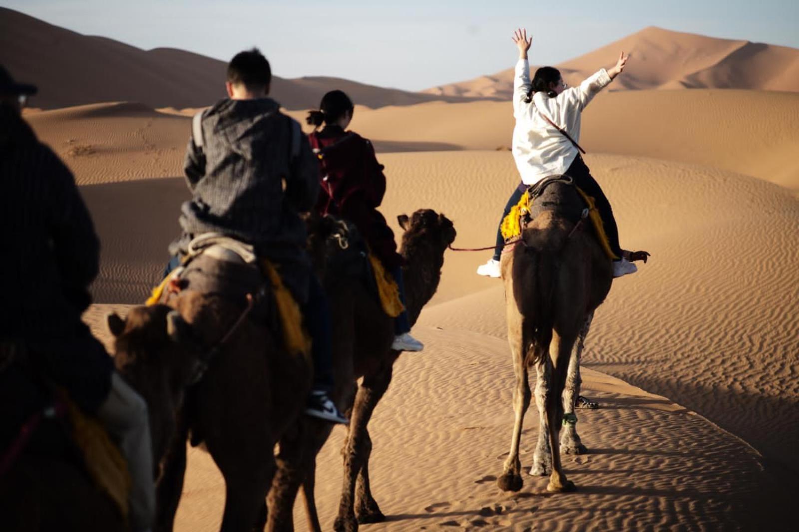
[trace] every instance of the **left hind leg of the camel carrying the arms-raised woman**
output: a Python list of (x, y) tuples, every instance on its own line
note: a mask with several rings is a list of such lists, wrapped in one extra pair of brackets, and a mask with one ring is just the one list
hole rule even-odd
[(522, 463), (519, 461), (519, 442), (522, 439), (524, 414), (530, 407), (530, 383), (527, 382), (527, 346), (530, 343), (523, 332), (517, 332), (511, 339), (513, 355), (513, 371), (516, 375), (516, 387), (513, 391), (513, 410), (515, 421), (511, 436), (511, 452), (503, 464), (503, 474), (497, 479), (497, 486), (503, 491), (519, 491), (522, 489)]

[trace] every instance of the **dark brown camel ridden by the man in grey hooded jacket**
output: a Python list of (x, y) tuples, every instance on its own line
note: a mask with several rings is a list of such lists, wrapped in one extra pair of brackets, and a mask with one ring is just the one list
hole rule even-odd
[[(205, 259), (189, 268), (199, 261), (194, 271), (203, 276), (219, 266)], [(310, 388), (308, 357), (284, 350), (268, 294), (239, 320), (244, 297), (231, 294), (257, 292), (256, 268), (225, 263), (220, 272), (229, 284), (219, 292), (193, 290), (189, 277), (167, 304), (133, 308), (125, 322), (109, 316), (117, 369), (149, 405), (161, 463), (156, 530), (173, 529), (189, 434), (193, 444), (205, 443), (225, 477), (221, 530), (233, 532), (256, 525), (276, 470), (272, 450), (282, 436), (300, 438), (304, 427), (296, 419)], [(282, 503), (270, 498), (268, 530), (292, 530), (291, 502)]]

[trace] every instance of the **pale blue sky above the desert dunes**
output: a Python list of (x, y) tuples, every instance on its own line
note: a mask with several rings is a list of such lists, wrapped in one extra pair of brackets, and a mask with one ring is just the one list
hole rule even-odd
[[(509, 68), (511, 33), (555, 64), (646, 26), (799, 48), (799, 0), (0, 0), (81, 34), (228, 61), (258, 46), (281, 77), (326, 75), (407, 90)], [(609, 58), (612, 60), (613, 58)]]

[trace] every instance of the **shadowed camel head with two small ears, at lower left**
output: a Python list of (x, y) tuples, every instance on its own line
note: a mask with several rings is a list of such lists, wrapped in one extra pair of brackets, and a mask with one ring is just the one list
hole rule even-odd
[(115, 338), (117, 371), (147, 402), (157, 464), (173, 437), (185, 389), (197, 378), (201, 344), (181, 314), (167, 305), (134, 307), (125, 320), (111, 313), (107, 324)]

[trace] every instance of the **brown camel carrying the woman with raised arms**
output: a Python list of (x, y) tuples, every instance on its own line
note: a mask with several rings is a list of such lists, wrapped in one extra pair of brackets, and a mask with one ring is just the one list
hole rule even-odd
[[(516, 386), (511, 452), (497, 483), (502, 490), (522, 488), (519, 441), (531, 399), (527, 371), (535, 365), (541, 430), (531, 474), (551, 469), (547, 490), (558, 492), (574, 490), (560, 460), (562, 424), (568, 426), (565, 450), (584, 451), (574, 427), (579, 355), (594, 310), (610, 291), (613, 274), (610, 260), (593, 232), (586, 230), (587, 224), (574, 230), (570, 220), (579, 217), (583, 205), (573, 187), (557, 182), (548, 185), (533, 207), (533, 220), (515, 247), (503, 255), (501, 265)], [(564, 394), (567, 374), (570, 386)]]

